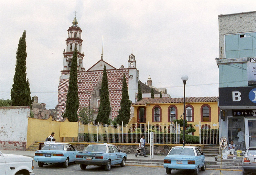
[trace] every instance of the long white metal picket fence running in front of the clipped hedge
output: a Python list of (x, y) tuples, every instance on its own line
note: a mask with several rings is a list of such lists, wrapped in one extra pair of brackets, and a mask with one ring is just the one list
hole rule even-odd
[(179, 143), (179, 130), (179, 125), (172, 123), (89, 125), (88, 142), (138, 143), (142, 134), (145, 135), (146, 142), (149, 142), (149, 134), (154, 132), (154, 143), (174, 144)]

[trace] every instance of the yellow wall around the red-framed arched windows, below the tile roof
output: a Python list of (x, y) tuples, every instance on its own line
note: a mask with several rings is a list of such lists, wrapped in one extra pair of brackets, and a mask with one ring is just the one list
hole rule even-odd
[[(186, 105), (192, 105), (194, 107), (194, 122), (188, 122), (188, 124), (199, 125), (199, 121), (201, 120), (201, 106), (204, 104), (208, 104), (211, 107), (211, 123), (217, 123), (219, 126), (218, 120), (218, 103), (217, 102), (205, 102), (205, 103), (186, 103)], [(158, 105), (162, 109), (162, 122), (152, 122), (152, 109), (155, 105)], [(146, 124), (148, 122), (152, 125), (160, 124), (160, 123), (168, 123), (168, 107), (170, 105), (175, 105), (177, 107), (177, 117), (178, 119), (183, 114), (183, 103), (168, 103), (168, 104), (147, 104), (146, 108)], [(142, 105), (144, 106), (144, 105)], [(137, 112), (138, 108), (142, 106), (133, 106), (134, 107), (134, 117), (137, 120)], [(182, 117), (183, 118), (183, 117)], [(136, 122), (137, 123), (137, 122)], [(210, 123), (209, 121), (203, 122), (201, 121), (201, 125)], [(197, 131), (195, 132), (195, 136), (199, 136), (199, 127), (194, 127)], [(183, 129), (183, 128), (182, 128)]]

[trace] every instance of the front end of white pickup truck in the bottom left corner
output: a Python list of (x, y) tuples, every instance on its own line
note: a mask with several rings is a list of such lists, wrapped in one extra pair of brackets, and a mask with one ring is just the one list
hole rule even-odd
[(31, 157), (3, 154), (0, 151), (1, 175), (35, 175), (34, 160)]

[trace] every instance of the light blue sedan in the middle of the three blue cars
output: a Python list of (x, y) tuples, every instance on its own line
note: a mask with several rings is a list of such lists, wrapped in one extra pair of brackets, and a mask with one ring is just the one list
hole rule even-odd
[(85, 170), (88, 165), (104, 166), (105, 170), (110, 170), (112, 165), (120, 164), (125, 166), (127, 154), (118, 150), (111, 144), (90, 144), (82, 152), (76, 155), (75, 163), (80, 164), (80, 168)]

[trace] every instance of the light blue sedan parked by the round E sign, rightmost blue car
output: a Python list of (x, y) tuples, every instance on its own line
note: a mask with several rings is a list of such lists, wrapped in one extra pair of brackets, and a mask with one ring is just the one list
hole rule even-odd
[(173, 147), (164, 159), (166, 173), (171, 174), (172, 170), (193, 170), (198, 175), (199, 168), (205, 171), (205, 153), (194, 146)]

